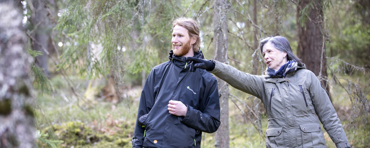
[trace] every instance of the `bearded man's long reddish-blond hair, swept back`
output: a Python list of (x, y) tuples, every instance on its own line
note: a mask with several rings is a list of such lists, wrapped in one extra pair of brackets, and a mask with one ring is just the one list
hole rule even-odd
[(200, 49), (200, 37), (199, 37), (199, 27), (196, 21), (192, 18), (181, 17), (172, 22), (172, 29), (179, 25), (187, 29), (187, 33), (189, 34), (190, 40), (192, 37), (196, 37), (196, 41), (193, 44), (193, 51), (198, 52)]

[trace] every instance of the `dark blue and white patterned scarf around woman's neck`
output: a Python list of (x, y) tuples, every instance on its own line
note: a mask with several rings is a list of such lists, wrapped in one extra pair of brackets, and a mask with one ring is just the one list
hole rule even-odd
[(270, 68), (266, 68), (265, 74), (269, 75), (270, 77), (284, 77), (293, 71), (297, 70), (298, 63), (296, 61), (290, 60), (285, 63), (283, 66), (280, 67), (278, 71)]

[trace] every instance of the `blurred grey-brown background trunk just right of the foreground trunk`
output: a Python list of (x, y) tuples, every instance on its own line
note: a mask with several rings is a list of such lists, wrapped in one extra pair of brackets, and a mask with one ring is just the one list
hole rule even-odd
[[(54, 3), (53, 0), (46, 1), (52, 4)], [(33, 50), (42, 52), (42, 55), (36, 57), (35, 62), (38, 67), (44, 70), (44, 74), (49, 76), (48, 54), (50, 52), (49, 48), (52, 47), (51, 41), (53, 41), (50, 37), (52, 25), (48, 19), (48, 12), (44, 7), (44, 3), (41, 0), (32, 0), (32, 5), (34, 12), (31, 15), (30, 23), (34, 29), (36, 28), (32, 34), (36, 39), (36, 41), (32, 42), (32, 47)]]

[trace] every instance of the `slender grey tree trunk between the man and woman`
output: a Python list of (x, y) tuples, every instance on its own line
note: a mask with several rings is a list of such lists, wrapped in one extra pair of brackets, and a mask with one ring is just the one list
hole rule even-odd
[[(214, 8), (214, 40), (215, 40), (215, 60), (222, 63), (228, 63), (227, 60), (227, 14), (230, 8), (228, 0), (216, 0)], [(220, 78), (217, 78), (220, 107), (221, 107), (221, 125), (216, 132), (215, 147), (229, 148), (229, 109), (228, 109), (228, 84)]]

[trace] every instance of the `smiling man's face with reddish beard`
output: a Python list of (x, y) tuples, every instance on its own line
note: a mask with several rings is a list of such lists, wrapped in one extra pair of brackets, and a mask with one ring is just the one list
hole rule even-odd
[(172, 50), (177, 56), (193, 53), (193, 46), (186, 28), (179, 25), (174, 27), (172, 32)]

